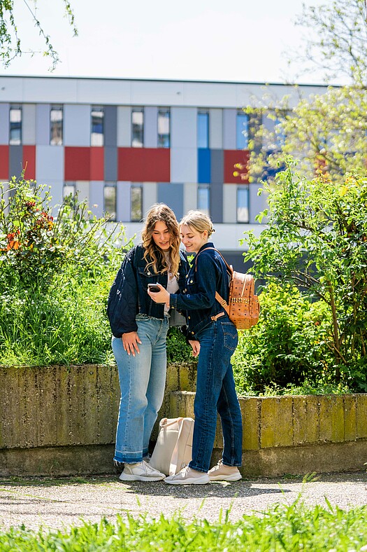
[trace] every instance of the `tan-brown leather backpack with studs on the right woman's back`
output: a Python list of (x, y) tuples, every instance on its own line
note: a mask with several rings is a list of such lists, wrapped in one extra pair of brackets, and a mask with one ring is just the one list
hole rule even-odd
[(214, 249), (220, 254), (229, 274), (229, 303), (226, 303), (217, 291), (215, 292), (215, 298), (222, 305), (229, 319), (238, 330), (252, 328), (252, 326), (255, 326), (259, 322), (260, 314), (259, 298), (254, 294), (254, 277), (251, 274), (243, 274), (242, 272), (233, 270), (226, 262), (224, 256), (215, 247), (206, 247), (206, 249)]

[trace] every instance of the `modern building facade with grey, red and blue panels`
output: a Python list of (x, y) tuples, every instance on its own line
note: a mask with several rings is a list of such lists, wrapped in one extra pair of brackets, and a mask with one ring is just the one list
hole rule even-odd
[[(178, 219), (201, 209), (215, 244), (237, 269), (248, 229), (265, 207), (259, 183), (236, 175), (248, 159), (243, 107), (261, 83), (0, 76), (0, 181), (19, 177), (51, 186), (54, 205), (78, 192), (97, 216), (138, 234), (154, 202)], [(296, 102), (322, 86), (267, 85)], [(138, 237), (137, 237), (138, 239)]]

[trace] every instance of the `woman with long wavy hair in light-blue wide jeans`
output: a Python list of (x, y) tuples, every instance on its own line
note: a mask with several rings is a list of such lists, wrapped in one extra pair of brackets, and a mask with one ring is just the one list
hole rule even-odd
[(112, 348), (121, 399), (114, 461), (122, 481), (159, 481), (165, 476), (145, 461), (166, 381), (168, 310), (147, 294), (148, 284), (176, 293), (185, 284), (187, 260), (180, 251), (178, 221), (163, 203), (147, 213), (143, 243), (124, 258), (108, 296)]

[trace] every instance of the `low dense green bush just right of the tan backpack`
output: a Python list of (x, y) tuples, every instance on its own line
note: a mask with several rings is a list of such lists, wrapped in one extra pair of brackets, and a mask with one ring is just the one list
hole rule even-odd
[[(326, 347), (328, 313), (294, 286), (272, 282), (259, 294), (259, 323), (239, 334), (233, 372), (239, 392), (331, 382), (332, 355)], [(279, 391), (279, 389), (278, 389)]]

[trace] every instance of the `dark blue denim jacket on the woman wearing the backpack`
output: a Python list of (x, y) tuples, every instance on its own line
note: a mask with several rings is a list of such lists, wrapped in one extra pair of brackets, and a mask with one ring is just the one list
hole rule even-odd
[(220, 254), (208, 247), (208, 242), (199, 249), (192, 263), (186, 286), (180, 294), (171, 294), (170, 305), (178, 310), (187, 310), (187, 337), (195, 334), (212, 322), (211, 317), (224, 312), (224, 308), (215, 299), (215, 291), (228, 302), (229, 277), (226, 265)]

